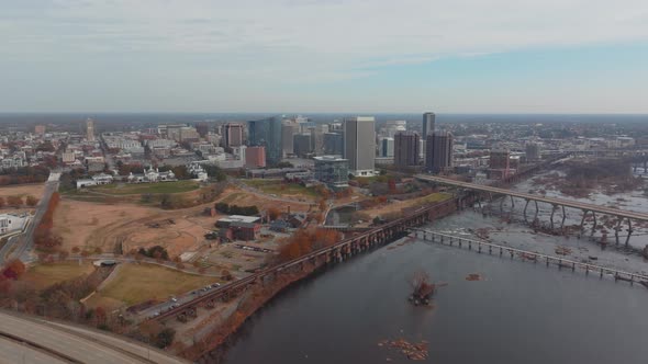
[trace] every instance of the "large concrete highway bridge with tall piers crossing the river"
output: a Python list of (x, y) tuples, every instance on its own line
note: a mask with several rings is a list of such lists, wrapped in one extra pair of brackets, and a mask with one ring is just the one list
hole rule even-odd
[[(627, 235), (626, 242), (625, 242), (626, 247), (628, 246), (629, 240), (630, 240), (630, 235), (633, 234), (632, 220), (648, 221), (648, 214), (646, 214), (646, 213), (623, 211), (623, 209), (618, 209), (618, 208), (614, 208), (614, 207), (607, 207), (607, 206), (583, 203), (583, 202), (579, 202), (579, 201), (571, 201), (571, 200), (566, 200), (566, 198), (545, 197), (545, 196), (534, 195), (530, 193), (511, 191), (511, 190), (503, 189), (500, 186), (456, 181), (456, 180), (451, 180), (451, 179), (438, 177), (438, 175), (417, 174), (416, 179), (418, 179), (421, 181), (427, 181), (427, 182), (433, 182), (433, 183), (437, 183), (437, 184), (445, 184), (445, 185), (450, 185), (450, 186), (455, 186), (455, 187), (459, 187), (459, 189), (477, 191), (481, 194), (487, 194), (490, 197), (490, 200), (492, 200), (493, 195), (510, 196), (511, 203), (512, 203), (512, 208), (515, 207), (515, 202), (513, 198), (514, 197), (522, 198), (522, 200), (526, 201), (526, 204), (524, 206), (524, 213), (523, 213), (525, 220), (528, 220), (526, 213), (527, 213), (528, 205), (532, 201), (535, 203), (535, 208), (536, 208), (535, 218), (537, 218), (538, 211), (539, 211), (538, 203), (549, 204), (554, 207), (551, 209), (551, 218), (550, 218), (551, 228), (554, 228), (554, 215), (555, 215), (558, 206), (560, 206), (562, 208), (561, 228), (565, 227), (565, 220), (567, 218), (567, 214), (565, 212), (566, 207), (576, 208), (576, 209), (580, 209), (583, 212), (581, 224), (580, 224), (581, 230), (583, 230), (585, 217), (588, 216), (588, 214), (591, 213), (594, 218), (594, 225), (592, 226), (592, 235), (594, 234), (594, 230), (597, 226), (596, 225), (596, 213), (603, 214), (603, 215), (615, 216), (617, 218), (617, 225), (615, 227), (615, 237), (616, 237), (617, 244), (618, 244), (618, 231), (621, 230), (622, 223), (624, 220), (626, 220), (628, 224), (628, 230), (627, 230), (628, 235)], [(480, 198), (477, 198), (477, 201), (479, 203)], [(503, 203), (503, 200), (502, 200), (502, 203)], [(502, 203), (500, 204), (500, 208), (502, 208)]]

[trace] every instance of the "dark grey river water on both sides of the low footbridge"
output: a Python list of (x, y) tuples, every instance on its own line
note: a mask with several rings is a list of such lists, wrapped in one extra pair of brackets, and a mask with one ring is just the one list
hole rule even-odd
[[(640, 272), (641, 259), (588, 240), (530, 235), (525, 227), (465, 212), (428, 228), (469, 236), (499, 228), (494, 242), (529, 250), (572, 247), (576, 257)], [(403, 243), (404, 242), (404, 243)], [(429, 343), (429, 363), (646, 363), (648, 289), (414, 238), (360, 254), (290, 287), (248, 320), (224, 362), (406, 363), (380, 346)], [(410, 277), (425, 271), (439, 288), (433, 308), (414, 307)], [(483, 280), (470, 282), (470, 273)]]

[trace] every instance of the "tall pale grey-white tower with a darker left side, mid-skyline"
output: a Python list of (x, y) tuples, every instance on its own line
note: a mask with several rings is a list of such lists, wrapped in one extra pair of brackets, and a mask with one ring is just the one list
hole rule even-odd
[(349, 173), (373, 175), (376, 164), (376, 120), (357, 116), (344, 121), (344, 158)]

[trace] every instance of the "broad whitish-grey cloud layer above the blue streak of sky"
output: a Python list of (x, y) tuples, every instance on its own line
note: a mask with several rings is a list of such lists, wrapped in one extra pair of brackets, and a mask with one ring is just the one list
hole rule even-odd
[(7, 0), (0, 68), (329, 83), (446, 57), (644, 42), (647, 24), (645, 0)]

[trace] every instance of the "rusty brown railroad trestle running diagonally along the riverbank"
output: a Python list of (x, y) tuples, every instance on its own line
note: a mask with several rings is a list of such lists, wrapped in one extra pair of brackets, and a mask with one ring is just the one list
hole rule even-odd
[(409, 228), (424, 225), (434, 219), (447, 216), (455, 211), (457, 211), (457, 201), (454, 198), (420, 207), (416, 211), (410, 212), (406, 216), (379, 227), (375, 227), (368, 231), (358, 232), (334, 246), (315, 250), (304, 257), (259, 271), (245, 278), (223, 285), (213, 289), (209, 294), (181, 304), (176, 308), (160, 312), (159, 316), (150, 319), (164, 321), (176, 317), (177, 319), (185, 321), (191, 317), (195, 317), (199, 307), (206, 309), (213, 308), (216, 303), (227, 300), (230, 297), (238, 295), (252, 285), (262, 285), (266, 282), (273, 280), (277, 274), (283, 271), (302, 271), (305, 264), (315, 264), (319, 266), (325, 263), (346, 261), (350, 257), (360, 252), (380, 247), (398, 237), (406, 236)]

